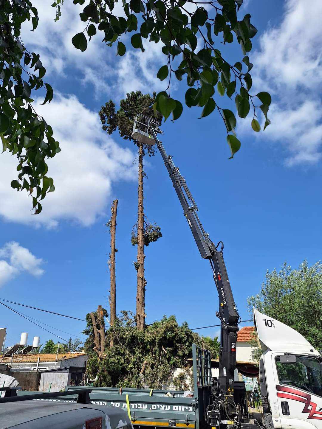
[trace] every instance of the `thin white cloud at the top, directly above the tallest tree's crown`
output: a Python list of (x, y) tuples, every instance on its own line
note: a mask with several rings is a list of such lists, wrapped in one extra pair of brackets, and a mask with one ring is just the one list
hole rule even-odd
[[(131, 46), (131, 35), (123, 35), (122, 40), (127, 45), (127, 52), (123, 57), (116, 56), (116, 46), (113, 48), (102, 43), (103, 33), (97, 31), (88, 43), (85, 52), (77, 50), (71, 40), (72, 37), (84, 30), (85, 23), (79, 18), (84, 6), (65, 2), (61, 7), (61, 18), (54, 22), (55, 8), (49, 4), (44, 6), (43, 0), (34, 0), (33, 5), (38, 9), (39, 24), (34, 32), (30, 31), (30, 23), (26, 22), (21, 38), (28, 48), (32, 47), (40, 54), (46, 76), (65, 76), (70, 80), (79, 79), (86, 85), (94, 86), (94, 96), (111, 94), (123, 97), (127, 92), (134, 90), (159, 91), (167, 85), (157, 79), (156, 74), (166, 56), (161, 52), (161, 43), (155, 45), (143, 39), (146, 51)], [(124, 15), (122, 2), (115, 3), (113, 13)], [(68, 74), (73, 70), (73, 76)], [(48, 79), (48, 78), (47, 78)]]

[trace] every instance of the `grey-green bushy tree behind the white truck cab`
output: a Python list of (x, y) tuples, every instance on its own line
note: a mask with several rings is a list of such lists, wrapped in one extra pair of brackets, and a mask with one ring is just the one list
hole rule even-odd
[(292, 270), (285, 262), (282, 269), (266, 274), (260, 292), (247, 299), (261, 313), (300, 332), (317, 350), (322, 349), (322, 264), (308, 266), (307, 261)]

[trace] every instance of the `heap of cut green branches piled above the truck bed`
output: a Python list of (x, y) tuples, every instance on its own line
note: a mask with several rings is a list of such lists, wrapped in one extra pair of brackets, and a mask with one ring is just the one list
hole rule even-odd
[[(86, 377), (97, 379), (96, 386), (161, 388), (169, 384), (175, 368), (183, 368), (192, 356), (192, 343), (201, 345), (197, 333), (181, 326), (175, 316), (164, 316), (159, 322), (140, 331), (135, 326), (133, 314), (122, 311), (115, 324), (106, 332), (105, 356), (99, 360), (93, 351), (94, 337), (92, 322), (87, 315), (88, 335), (85, 352), (88, 354)], [(110, 339), (113, 339), (110, 346)], [(140, 375), (146, 363), (143, 375)]]

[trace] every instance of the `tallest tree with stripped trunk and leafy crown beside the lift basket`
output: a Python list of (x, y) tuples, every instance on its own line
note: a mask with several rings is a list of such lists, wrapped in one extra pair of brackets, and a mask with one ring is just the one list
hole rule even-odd
[[(99, 115), (103, 124), (102, 128), (108, 134), (112, 134), (117, 128), (120, 136), (125, 140), (133, 140), (131, 133), (133, 130), (134, 118), (138, 113), (155, 118), (161, 121), (162, 116), (160, 113), (153, 110), (156, 94), (142, 94), (141, 91), (132, 91), (126, 94), (126, 99), (120, 101), (120, 108), (115, 111), (115, 103), (109, 100), (101, 107)], [(133, 140), (138, 149), (138, 220), (134, 225), (132, 231), (131, 242), (137, 245), (137, 262), (134, 264), (137, 269), (137, 305), (136, 305), (136, 322), (137, 327), (143, 331), (145, 313), (145, 290), (146, 279), (144, 276), (144, 245), (149, 245), (150, 242), (156, 241), (160, 238), (161, 231), (157, 225), (149, 223), (144, 216), (144, 202), (143, 202), (143, 157), (147, 153), (149, 156), (155, 154), (154, 146), (144, 145), (137, 140)]]

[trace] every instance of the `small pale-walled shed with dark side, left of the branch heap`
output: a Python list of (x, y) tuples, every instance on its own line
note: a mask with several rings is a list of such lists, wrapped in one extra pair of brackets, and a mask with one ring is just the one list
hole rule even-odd
[(59, 392), (65, 386), (84, 385), (84, 366), (67, 366), (65, 368), (49, 369), (41, 373), (39, 391)]

